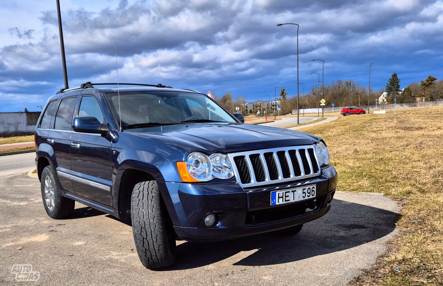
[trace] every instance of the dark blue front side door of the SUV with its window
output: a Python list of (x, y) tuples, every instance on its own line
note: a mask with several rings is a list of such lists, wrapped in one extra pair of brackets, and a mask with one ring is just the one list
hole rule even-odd
[[(93, 116), (104, 123), (97, 99), (83, 95), (77, 117)], [(111, 137), (109, 135), (71, 134), (72, 184), (77, 195), (112, 206), (111, 194)]]

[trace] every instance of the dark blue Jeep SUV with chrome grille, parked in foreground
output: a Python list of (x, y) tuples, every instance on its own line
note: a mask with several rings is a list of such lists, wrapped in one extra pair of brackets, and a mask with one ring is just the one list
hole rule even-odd
[(329, 211), (337, 172), (319, 137), (245, 124), (194, 90), (99, 85), (52, 96), (35, 127), (51, 218), (78, 201), (130, 219), (141, 262), (158, 269), (176, 240), (291, 235)]

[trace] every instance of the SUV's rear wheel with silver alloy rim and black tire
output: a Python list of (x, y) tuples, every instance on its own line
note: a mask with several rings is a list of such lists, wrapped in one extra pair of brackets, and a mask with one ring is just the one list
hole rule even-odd
[(64, 219), (72, 215), (75, 201), (65, 198), (60, 193), (57, 180), (50, 166), (46, 166), (41, 175), (40, 182), (43, 205), (46, 213), (53, 219)]

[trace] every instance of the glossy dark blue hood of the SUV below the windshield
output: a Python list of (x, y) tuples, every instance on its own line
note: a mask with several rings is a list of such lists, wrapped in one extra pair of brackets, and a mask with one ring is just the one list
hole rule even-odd
[(319, 137), (299, 131), (245, 123), (192, 123), (129, 129), (125, 133), (163, 141), (186, 151), (238, 152), (308, 145)]

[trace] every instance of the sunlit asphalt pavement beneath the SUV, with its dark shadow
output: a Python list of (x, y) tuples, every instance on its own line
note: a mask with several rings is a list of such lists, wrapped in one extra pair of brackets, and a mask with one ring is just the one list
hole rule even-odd
[(140, 263), (130, 225), (76, 203), (54, 220), (37, 179), (0, 176), (0, 285), (18, 284), (13, 264), (31, 264), (43, 285), (346, 285), (385, 252), (399, 206), (380, 194), (337, 192), (329, 213), (295, 236), (178, 242), (166, 270)]

